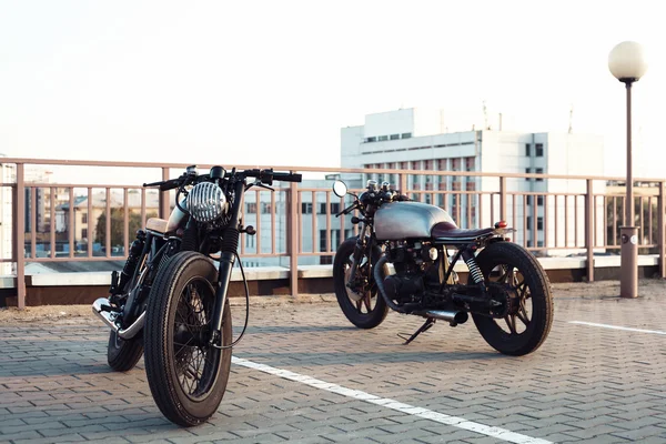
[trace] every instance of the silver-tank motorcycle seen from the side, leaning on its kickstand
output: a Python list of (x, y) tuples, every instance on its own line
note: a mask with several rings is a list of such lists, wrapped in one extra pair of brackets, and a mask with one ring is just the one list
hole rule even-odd
[[(371, 180), (355, 195), (336, 181), (333, 191), (353, 195), (337, 215), (357, 210), (352, 223), (361, 224), (360, 235), (344, 241), (333, 261), (335, 295), (354, 325), (373, 329), (391, 307), (425, 317), (405, 344), (437, 320), (455, 326), (468, 314), (483, 339), (504, 354), (525, 355), (546, 340), (553, 323), (548, 276), (528, 251), (505, 238), (515, 231), (505, 222), (460, 229), (446, 211), (411, 202), (386, 182), (377, 186)], [(454, 271), (461, 260), (468, 269), (466, 283)]]

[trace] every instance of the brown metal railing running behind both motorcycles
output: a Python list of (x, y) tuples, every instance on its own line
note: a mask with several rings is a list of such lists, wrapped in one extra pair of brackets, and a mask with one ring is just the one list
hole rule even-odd
[[(16, 180), (0, 178), (0, 241), (11, 236), (11, 254), (0, 250), (0, 266), (16, 264), (18, 305), (24, 306), (26, 264), (69, 261), (122, 261), (133, 240), (132, 229), (144, 226), (149, 216), (168, 219), (173, 208), (173, 192), (149, 191), (141, 183), (137, 169), (148, 169), (162, 180), (176, 176), (185, 164), (148, 162), (60, 161), (0, 158), (0, 163), (13, 165)], [(223, 163), (222, 163), (223, 164)], [(124, 184), (50, 183), (27, 181), (26, 167), (37, 168), (111, 168), (130, 171)], [(200, 165), (202, 169), (211, 165)], [(238, 169), (258, 165), (235, 165)], [(270, 167), (259, 167), (270, 168)], [(506, 220), (517, 229), (515, 242), (536, 255), (575, 254), (586, 258), (587, 276), (594, 280), (594, 255), (618, 254), (619, 226), (625, 193), (623, 178), (569, 176), (554, 174), (508, 174), (474, 171), (424, 171), (392, 169), (333, 169), (273, 167), (275, 171), (307, 174), (343, 174), (365, 179), (389, 179), (414, 200), (437, 204), (448, 211), (462, 228), (490, 226)], [(178, 171), (174, 171), (178, 170)], [(4, 170), (3, 170), (4, 171)], [(141, 172), (143, 174), (143, 172)], [(157, 173), (157, 174), (155, 174)], [(72, 174), (75, 175), (75, 174)], [(115, 174), (114, 176), (118, 176)], [(659, 273), (664, 265), (664, 196), (665, 180), (639, 179), (635, 186), (637, 220), (640, 226), (638, 245), (643, 253), (657, 254)], [(297, 270), (299, 260), (331, 263), (340, 242), (357, 233), (349, 219), (334, 219), (337, 209), (349, 200), (331, 191), (333, 180), (316, 186), (292, 183), (268, 191), (250, 191), (244, 196), (245, 223), (253, 222), (254, 241), (241, 239), (241, 258), (289, 261)], [(11, 190), (7, 193), (7, 190)], [(4, 225), (6, 209), (11, 208), (11, 230)], [(254, 214), (254, 215), (253, 215)], [(102, 225), (103, 224), (103, 225)], [(100, 229), (100, 225), (101, 229)], [(268, 225), (268, 226), (266, 226)], [(282, 225), (282, 226), (280, 226)], [(40, 231), (41, 230), (41, 231)], [(84, 231), (85, 230), (85, 231)], [(93, 234), (94, 232), (94, 234)], [(2, 241), (4, 244), (7, 240)], [(2, 244), (0, 242), (0, 244)], [(319, 262), (317, 262), (319, 261)], [(2, 274), (2, 273), (0, 273)], [(291, 274), (292, 294), (297, 291), (297, 273)]]

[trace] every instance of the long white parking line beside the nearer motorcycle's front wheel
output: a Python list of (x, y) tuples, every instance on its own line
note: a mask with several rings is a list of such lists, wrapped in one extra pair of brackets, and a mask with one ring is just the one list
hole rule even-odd
[(259, 370), (260, 372), (269, 373), (275, 376), (283, 377), (285, 380), (300, 382), (305, 385), (310, 385), (311, 387), (325, 390), (331, 393), (336, 393), (339, 395), (343, 395), (346, 397), (352, 397), (355, 400), (361, 400), (369, 402), (371, 404), (382, 405), (386, 408), (395, 410), (401, 413), (405, 413), (408, 415), (414, 415), (422, 417), (424, 420), (431, 420), (441, 424), (452, 425), (454, 427), (464, 428), (471, 432), (481, 433), (486, 436), (492, 436), (497, 440), (507, 441), (509, 443), (516, 444), (552, 444), (551, 441), (541, 440), (536, 437), (531, 437), (527, 435), (522, 435), (519, 433), (514, 433), (506, 428), (492, 427), (490, 425), (484, 425), (480, 423), (475, 423), (472, 421), (467, 421), (463, 417), (450, 416), (444, 413), (434, 412), (432, 410), (416, 407), (414, 405), (404, 404), (395, 400), (391, 400), (387, 397), (380, 397), (373, 394), (362, 392), (360, 390), (352, 390), (343, 387), (342, 385), (332, 384), (322, 380), (316, 380), (314, 377), (302, 375), (299, 373), (290, 372), (289, 370), (282, 370), (272, 367), (270, 365), (259, 364), (252, 361), (243, 360), (240, 357), (232, 357), (232, 361), (236, 365), (241, 365), (248, 369)]

